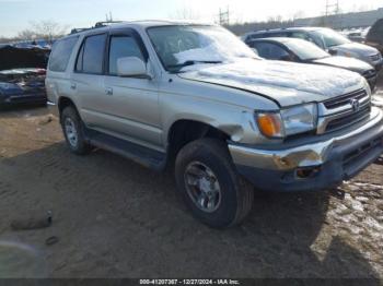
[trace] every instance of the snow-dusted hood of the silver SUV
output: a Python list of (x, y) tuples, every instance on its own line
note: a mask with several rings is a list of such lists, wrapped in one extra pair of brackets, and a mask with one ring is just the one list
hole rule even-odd
[(252, 59), (190, 65), (178, 75), (260, 94), (280, 106), (324, 102), (362, 88), (365, 82), (359, 74), (337, 68)]

